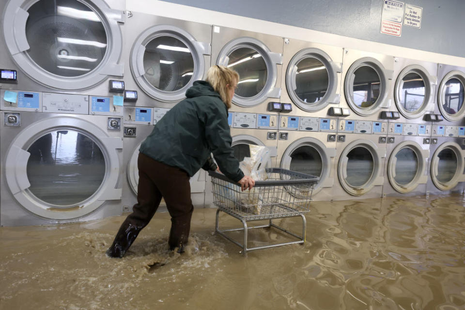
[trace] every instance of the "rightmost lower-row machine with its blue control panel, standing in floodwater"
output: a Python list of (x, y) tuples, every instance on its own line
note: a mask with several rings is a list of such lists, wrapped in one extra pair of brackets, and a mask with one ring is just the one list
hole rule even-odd
[(433, 125), (426, 193), (462, 193), (465, 181), (465, 131), (463, 126)]

